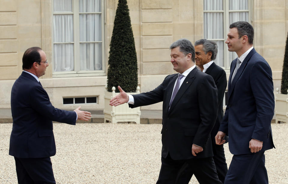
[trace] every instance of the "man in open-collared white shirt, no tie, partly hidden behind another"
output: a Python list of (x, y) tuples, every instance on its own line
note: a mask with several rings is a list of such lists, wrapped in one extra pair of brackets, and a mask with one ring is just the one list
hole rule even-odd
[[(215, 125), (211, 131), (211, 138), (214, 138), (223, 119), (223, 97), (227, 86), (226, 72), (214, 63), (218, 52), (218, 46), (215, 42), (211, 40), (201, 39), (197, 40), (194, 43), (194, 46), (195, 63), (197, 65), (197, 68), (213, 77), (218, 90), (218, 114)], [(206, 105), (210, 104), (208, 103)], [(213, 141), (212, 148), (214, 153), (213, 159), (216, 166), (218, 178), (221, 182), (224, 182), (228, 168), (226, 164), (223, 144), (217, 145)], [(180, 172), (179, 174), (179, 180), (181, 181), (180, 183), (188, 184), (193, 174), (190, 171), (191, 168), (186, 164), (183, 166), (182, 170), (183, 172)]]

